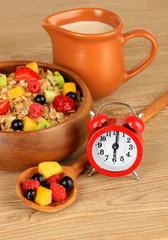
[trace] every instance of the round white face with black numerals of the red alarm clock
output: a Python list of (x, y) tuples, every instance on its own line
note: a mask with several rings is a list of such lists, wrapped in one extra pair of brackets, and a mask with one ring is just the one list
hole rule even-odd
[(102, 169), (119, 172), (134, 164), (137, 158), (137, 146), (126, 133), (108, 131), (95, 140), (92, 155), (96, 164)]

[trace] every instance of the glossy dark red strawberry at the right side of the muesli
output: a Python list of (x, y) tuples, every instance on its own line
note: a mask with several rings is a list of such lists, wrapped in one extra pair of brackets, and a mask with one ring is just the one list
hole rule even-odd
[(76, 109), (76, 103), (70, 97), (59, 95), (54, 98), (53, 107), (57, 112), (69, 112)]

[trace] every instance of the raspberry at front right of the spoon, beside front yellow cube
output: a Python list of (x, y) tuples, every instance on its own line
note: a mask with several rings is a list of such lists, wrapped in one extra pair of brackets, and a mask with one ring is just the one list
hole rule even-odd
[(52, 183), (50, 189), (52, 190), (52, 200), (54, 202), (61, 202), (66, 199), (66, 189), (62, 185)]

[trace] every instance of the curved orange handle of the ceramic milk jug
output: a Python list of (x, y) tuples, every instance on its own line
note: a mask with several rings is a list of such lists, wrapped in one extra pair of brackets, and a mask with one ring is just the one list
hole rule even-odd
[(126, 71), (124, 82), (126, 82), (127, 80), (129, 80), (130, 78), (134, 77), (139, 72), (141, 72), (143, 69), (145, 69), (155, 58), (157, 49), (158, 49), (156, 38), (152, 35), (152, 33), (150, 33), (149, 31), (147, 31), (145, 29), (133, 29), (126, 33), (123, 33), (122, 34), (122, 42), (124, 44), (129, 39), (135, 38), (135, 37), (147, 38), (151, 42), (151, 50), (142, 61), (140, 61), (137, 65), (135, 65), (130, 70)]

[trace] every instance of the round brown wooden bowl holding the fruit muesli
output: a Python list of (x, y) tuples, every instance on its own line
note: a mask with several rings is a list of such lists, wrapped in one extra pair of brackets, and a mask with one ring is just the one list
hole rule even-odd
[[(0, 69), (15, 72), (31, 61), (0, 62)], [(80, 108), (67, 120), (49, 128), (28, 132), (0, 131), (0, 169), (21, 170), (43, 161), (60, 161), (76, 151), (88, 136), (89, 110), (93, 109), (90, 92), (82, 80), (63, 67), (38, 62), (44, 70), (59, 71), (65, 81), (75, 82), (83, 95)]]

